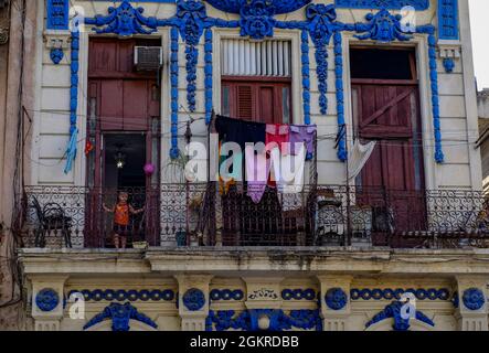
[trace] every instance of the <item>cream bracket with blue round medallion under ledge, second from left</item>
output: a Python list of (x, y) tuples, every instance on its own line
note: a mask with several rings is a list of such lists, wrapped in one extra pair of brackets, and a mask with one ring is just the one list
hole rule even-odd
[(212, 275), (177, 275), (182, 331), (205, 331)]

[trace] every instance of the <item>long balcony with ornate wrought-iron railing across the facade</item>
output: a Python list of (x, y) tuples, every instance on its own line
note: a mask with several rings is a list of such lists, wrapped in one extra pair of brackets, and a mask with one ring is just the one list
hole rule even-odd
[[(255, 204), (245, 185), (161, 184), (127, 190), (128, 247), (391, 247), (465, 248), (489, 245), (481, 193), (406, 192), (305, 185), (300, 193), (268, 189)], [(23, 247), (111, 248), (117, 192), (29, 186), (18, 229)]]

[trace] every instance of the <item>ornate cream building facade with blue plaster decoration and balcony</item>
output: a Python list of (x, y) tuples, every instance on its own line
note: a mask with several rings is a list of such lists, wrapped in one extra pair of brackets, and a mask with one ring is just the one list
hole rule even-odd
[[(488, 330), (467, 0), (26, 6), (25, 329)], [(311, 131), (300, 192), (184, 178), (220, 115)]]

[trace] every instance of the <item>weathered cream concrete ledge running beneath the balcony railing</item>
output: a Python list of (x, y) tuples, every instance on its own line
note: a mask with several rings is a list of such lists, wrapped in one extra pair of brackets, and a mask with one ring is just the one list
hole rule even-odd
[(489, 249), (346, 247), (152, 247), (138, 249), (20, 249), (24, 274), (213, 275), (341, 272), (351, 275), (487, 275)]

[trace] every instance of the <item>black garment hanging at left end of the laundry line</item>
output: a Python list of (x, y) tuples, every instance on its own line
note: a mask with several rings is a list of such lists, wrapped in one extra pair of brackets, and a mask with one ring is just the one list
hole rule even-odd
[(244, 152), (246, 143), (265, 143), (266, 125), (216, 116), (215, 130), (222, 142), (236, 142)]

